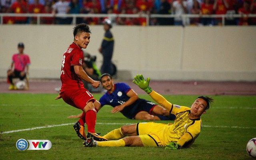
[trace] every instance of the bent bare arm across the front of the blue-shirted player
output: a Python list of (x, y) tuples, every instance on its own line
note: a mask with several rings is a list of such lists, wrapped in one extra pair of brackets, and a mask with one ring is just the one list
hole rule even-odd
[(138, 100), (138, 95), (136, 94), (136, 92), (134, 92), (134, 90), (129, 90), (126, 95), (128, 97), (130, 97), (126, 102), (124, 102), (123, 104), (119, 105), (119, 106), (115, 106), (112, 109), (112, 113), (116, 113), (119, 112), (121, 110), (123, 110), (126, 106), (130, 106), (131, 104), (133, 104), (136, 100)]

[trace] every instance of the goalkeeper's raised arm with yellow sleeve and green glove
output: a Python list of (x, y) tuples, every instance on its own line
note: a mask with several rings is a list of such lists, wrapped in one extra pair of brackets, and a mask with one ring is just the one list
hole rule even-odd
[(153, 100), (155, 100), (158, 104), (163, 106), (169, 112), (172, 110), (172, 104), (168, 102), (162, 95), (158, 94), (157, 92), (153, 91), (149, 85), (150, 78), (148, 77), (147, 80), (144, 80), (144, 77), (141, 74), (137, 74), (132, 81), (134, 84), (138, 85), (142, 90), (144, 90), (147, 94), (149, 94)]

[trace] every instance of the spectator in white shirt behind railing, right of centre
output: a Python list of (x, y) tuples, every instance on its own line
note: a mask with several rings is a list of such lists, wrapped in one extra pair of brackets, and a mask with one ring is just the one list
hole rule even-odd
[(178, 17), (174, 17), (174, 25), (184, 25), (182, 22), (182, 14), (188, 13), (186, 0), (175, 0), (172, 4), (174, 14)]

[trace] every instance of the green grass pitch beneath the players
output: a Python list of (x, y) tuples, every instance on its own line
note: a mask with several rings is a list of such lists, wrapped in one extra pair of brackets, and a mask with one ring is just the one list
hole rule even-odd
[[(54, 100), (57, 94), (0, 94), (0, 132), (40, 126), (74, 123), (80, 110), (63, 100)], [(101, 94), (94, 94), (99, 99)], [(164, 95), (170, 102), (190, 106), (197, 96)], [(150, 96), (140, 95), (148, 100)], [(256, 137), (256, 96), (212, 96), (215, 102), (202, 115), (203, 127), (194, 144), (182, 150), (164, 150), (160, 147), (84, 148), (72, 124), (28, 131), (0, 134), (0, 159), (70, 159), (70, 160), (250, 160), (246, 153), (248, 140)], [(129, 120), (122, 114), (111, 114), (104, 106), (97, 114), (96, 132), (106, 134), (122, 124), (142, 122)], [(160, 122), (160, 121), (159, 121)], [(168, 122), (168, 121), (161, 121)], [(50, 150), (19, 151), (16, 141), (50, 140)]]

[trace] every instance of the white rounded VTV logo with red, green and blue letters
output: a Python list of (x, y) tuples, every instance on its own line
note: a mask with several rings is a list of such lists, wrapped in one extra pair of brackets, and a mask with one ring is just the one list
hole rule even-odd
[(28, 140), (28, 150), (49, 150), (52, 147), (50, 140)]

